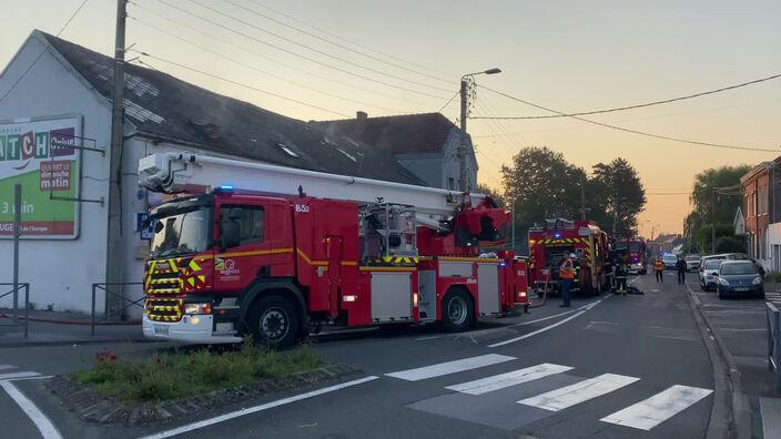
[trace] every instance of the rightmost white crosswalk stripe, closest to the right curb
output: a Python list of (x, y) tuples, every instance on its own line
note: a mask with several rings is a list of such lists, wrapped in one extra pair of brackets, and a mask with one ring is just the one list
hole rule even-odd
[(672, 386), (600, 421), (648, 431), (712, 392), (699, 387)]

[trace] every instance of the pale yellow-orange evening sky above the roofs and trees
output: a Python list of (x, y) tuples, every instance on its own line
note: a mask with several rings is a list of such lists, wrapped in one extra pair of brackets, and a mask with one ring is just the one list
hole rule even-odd
[[(82, 1), (4, 2), (0, 67), (33, 29), (57, 34)], [(87, 0), (61, 38), (113, 54), (115, 4)], [(495, 67), (503, 72), (475, 76), (473, 116), (550, 114), (485, 88), (579, 112), (781, 73), (781, 2), (772, 0), (132, 0), (128, 11), (128, 59), (302, 120), (442, 109), (455, 121), (458, 99), (447, 102), (459, 78)], [(648, 192), (639, 224), (640, 233), (650, 236), (651, 231), (682, 232), (697, 173), (780, 155), (779, 114), (781, 79), (588, 116), (778, 153), (690, 145), (569, 118), (468, 120), (467, 131), (477, 149), (478, 182), (498, 192), (501, 164), (525, 146), (548, 146), (587, 171), (626, 157)]]

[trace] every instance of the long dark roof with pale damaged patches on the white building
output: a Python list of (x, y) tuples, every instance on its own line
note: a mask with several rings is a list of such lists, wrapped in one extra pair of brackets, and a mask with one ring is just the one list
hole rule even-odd
[[(40, 31), (36, 31), (40, 32)], [(111, 101), (113, 59), (40, 32)], [(125, 116), (141, 135), (283, 166), (425, 185), (388, 152), (339, 133), (125, 64)]]

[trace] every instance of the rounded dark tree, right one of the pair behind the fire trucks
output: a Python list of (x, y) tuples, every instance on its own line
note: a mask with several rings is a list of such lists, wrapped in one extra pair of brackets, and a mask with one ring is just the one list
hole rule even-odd
[(613, 226), (615, 223), (617, 231), (637, 232), (637, 215), (643, 211), (647, 200), (635, 167), (623, 157), (608, 164), (597, 163), (592, 180), (596, 193), (604, 197), (600, 201), (605, 210), (598, 212), (609, 217), (601, 224)]

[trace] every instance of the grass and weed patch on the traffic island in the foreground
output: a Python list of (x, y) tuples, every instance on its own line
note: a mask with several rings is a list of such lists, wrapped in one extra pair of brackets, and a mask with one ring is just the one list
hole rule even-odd
[(233, 351), (202, 348), (145, 360), (118, 359), (102, 351), (95, 355), (92, 369), (74, 372), (73, 377), (101, 396), (124, 404), (143, 404), (207, 394), (322, 366), (317, 353), (308, 345), (275, 353), (247, 338)]

